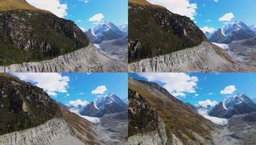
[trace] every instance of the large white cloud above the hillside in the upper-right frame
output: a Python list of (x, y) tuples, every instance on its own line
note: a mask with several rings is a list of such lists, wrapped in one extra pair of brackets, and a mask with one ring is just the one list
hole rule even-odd
[(191, 20), (194, 20), (197, 15), (196, 3), (189, 3), (189, 0), (147, 0), (148, 2), (166, 7), (173, 13), (177, 13), (182, 16), (187, 16)]

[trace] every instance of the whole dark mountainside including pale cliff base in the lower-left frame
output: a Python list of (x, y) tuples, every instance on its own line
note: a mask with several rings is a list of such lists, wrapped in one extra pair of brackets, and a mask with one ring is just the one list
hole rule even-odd
[(94, 126), (31, 83), (0, 74), (1, 145), (100, 145)]

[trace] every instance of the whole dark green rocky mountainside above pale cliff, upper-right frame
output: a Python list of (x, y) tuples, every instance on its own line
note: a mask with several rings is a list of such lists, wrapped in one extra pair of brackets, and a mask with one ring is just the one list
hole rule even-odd
[(207, 41), (186, 16), (150, 4), (129, 0), (129, 62), (190, 48)]

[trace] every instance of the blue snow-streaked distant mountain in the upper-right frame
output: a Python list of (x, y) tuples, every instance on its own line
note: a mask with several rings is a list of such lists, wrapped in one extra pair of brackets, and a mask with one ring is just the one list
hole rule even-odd
[(229, 44), (232, 41), (240, 41), (256, 37), (254, 26), (255, 25), (250, 26), (250, 29), (244, 22), (234, 21), (219, 28), (211, 35), (209, 35), (209, 33), (205, 34), (211, 42)]

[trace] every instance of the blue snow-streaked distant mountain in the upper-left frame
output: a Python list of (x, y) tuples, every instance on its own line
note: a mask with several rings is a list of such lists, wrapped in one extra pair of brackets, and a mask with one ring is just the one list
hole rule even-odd
[(111, 21), (105, 21), (93, 26), (85, 33), (93, 43), (100, 44), (102, 41), (110, 41), (126, 37), (128, 34), (127, 27), (127, 24), (117, 27)]

